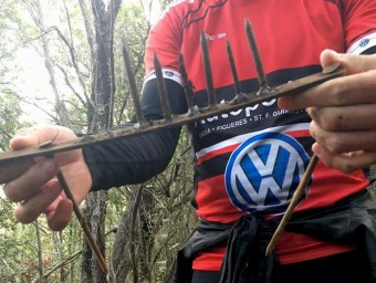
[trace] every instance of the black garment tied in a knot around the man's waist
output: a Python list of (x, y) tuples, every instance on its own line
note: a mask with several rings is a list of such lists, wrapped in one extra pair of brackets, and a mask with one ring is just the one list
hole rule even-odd
[[(274, 253), (264, 256), (272, 232), (281, 218), (270, 221), (246, 216), (232, 226), (200, 220), (178, 252), (175, 283), (190, 283), (191, 264), (198, 252), (228, 241), (218, 282), (278, 282)], [(364, 190), (326, 209), (294, 213), (286, 230), (333, 242), (356, 244), (376, 279), (376, 205)]]

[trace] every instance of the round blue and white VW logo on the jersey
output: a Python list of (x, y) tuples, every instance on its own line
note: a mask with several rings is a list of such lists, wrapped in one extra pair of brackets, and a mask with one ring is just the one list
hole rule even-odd
[(284, 212), (309, 159), (302, 145), (288, 135), (251, 137), (232, 153), (226, 168), (226, 190), (232, 205), (249, 213)]

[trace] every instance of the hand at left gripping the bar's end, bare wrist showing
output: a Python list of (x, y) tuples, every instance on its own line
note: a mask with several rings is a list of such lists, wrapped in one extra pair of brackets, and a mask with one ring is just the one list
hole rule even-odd
[[(61, 126), (24, 128), (10, 140), (10, 148), (38, 147), (49, 140), (59, 143), (75, 137), (72, 130)], [(30, 223), (41, 213), (45, 213), (49, 227), (54, 231), (64, 229), (70, 222), (73, 206), (55, 177), (59, 169), (80, 203), (92, 186), (81, 149), (60, 153), (54, 158), (38, 157), (0, 164), (0, 184), (4, 184), (7, 198), (18, 202), (14, 216), (20, 222)]]

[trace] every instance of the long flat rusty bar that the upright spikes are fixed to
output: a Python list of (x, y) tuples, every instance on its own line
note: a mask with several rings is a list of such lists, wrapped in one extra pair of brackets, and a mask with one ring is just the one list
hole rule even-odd
[(263, 95), (254, 95), (254, 93), (247, 94), (247, 97), (239, 103), (224, 102), (217, 106), (216, 109), (210, 108), (199, 108), (197, 114), (194, 116), (189, 116), (186, 114), (175, 115), (171, 123), (166, 124), (164, 120), (152, 120), (149, 122), (148, 127), (145, 129), (135, 129), (134, 127), (124, 127), (112, 130), (109, 133), (98, 133), (95, 135), (87, 135), (83, 137), (79, 137), (73, 140), (61, 142), (59, 144), (52, 144), (48, 148), (39, 148), (39, 147), (30, 147), (14, 151), (7, 151), (0, 154), (0, 163), (27, 158), (27, 157), (35, 157), (43, 156), (49, 154), (55, 154), (83, 147), (88, 147), (97, 144), (109, 143), (114, 139), (127, 138), (133, 136), (145, 135), (148, 133), (157, 132), (163, 128), (174, 127), (178, 125), (189, 124), (196, 120), (201, 120), (203, 118), (212, 117), (216, 115), (220, 115), (222, 113), (237, 111), (243, 107), (248, 107), (254, 104), (259, 104), (265, 101), (270, 101), (273, 98), (281, 97), (283, 95), (294, 95), (305, 90), (309, 90), (315, 85), (318, 85), (328, 80), (338, 77), (344, 75), (345, 72), (340, 65), (332, 65), (325, 69), (323, 72), (302, 77), (296, 81), (292, 81), (288, 84), (283, 84), (280, 86), (275, 86), (271, 92), (268, 92)]

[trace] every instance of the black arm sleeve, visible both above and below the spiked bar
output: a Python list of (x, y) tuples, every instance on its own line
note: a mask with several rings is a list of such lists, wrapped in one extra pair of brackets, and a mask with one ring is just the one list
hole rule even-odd
[[(187, 111), (182, 87), (166, 80), (170, 108), (174, 114)], [(153, 80), (145, 84), (140, 98), (143, 113), (148, 120), (163, 118), (158, 87)], [(135, 120), (123, 126), (133, 126)], [(93, 186), (92, 190), (144, 182), (161, 172), (176, 149), (180, 128), (169, 128), (84, 149)]]

